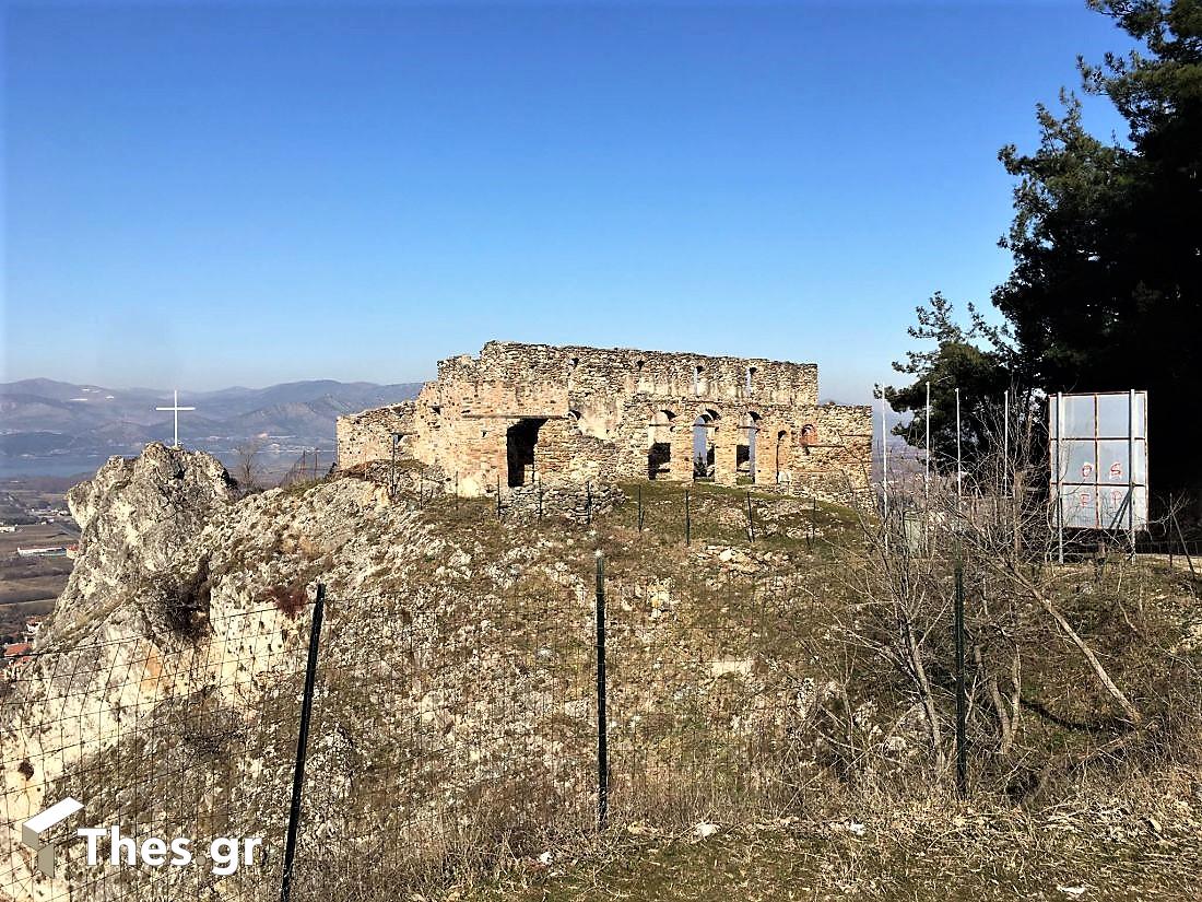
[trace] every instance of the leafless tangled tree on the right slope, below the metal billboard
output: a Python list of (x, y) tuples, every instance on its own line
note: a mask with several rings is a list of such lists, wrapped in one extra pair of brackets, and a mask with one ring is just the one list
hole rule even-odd
[[(891, 486), (887, 520), (883, 505), (861, 511), (864, 542), (847, 554), (840, 570), (855, 603), (837, 637), (862, 660), (867, 655), (887, 665), (902, 694), (898, 701), (922, 711), (928, 760), (936, 773), (946, 770), (952, 749), (957, 570), (963, 574), (968, 623), (968, 719), (977, 754), (993, 755), (1004, 767), (1028, 754), (1022, 741), (1029, 707), (1023, 658), (1048, 648), (1076, 657), (1082, 677), (1088, 675), (1109, 700), (1114, 713), (1103, 726), (1112, 742), (1127, 742), (1125, 737), (1138, 736), (1149, 722), (1108, 670), (1103, 649), (1095, 648), (1079, 627), (1079, 616), (1066, 607), (1066, 599), (1090, 581), (1093, 571), (1088, 564), (1053, 564), (1055, 530), (1042, 488), (1046, 435), (1030, 423), (1027, 417), (1018, 429), (1012, 421), (1002, 453), (998, 411), (998, 423), (992, 425), (996, 451), (960, 486), (940, 477), (929, 487), (921, 477)], [(1133, 566), (1129, 553), (1125, 544), (1117, 542), (1113, 565)]]

